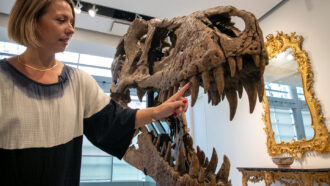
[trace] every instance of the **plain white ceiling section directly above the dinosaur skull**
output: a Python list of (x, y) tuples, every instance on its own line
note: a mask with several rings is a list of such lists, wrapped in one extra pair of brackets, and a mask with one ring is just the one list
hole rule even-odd
[(82, 0), (151, 17), (177, 17), (215, 6), (232, 5), (260, 18), (282, 0)]

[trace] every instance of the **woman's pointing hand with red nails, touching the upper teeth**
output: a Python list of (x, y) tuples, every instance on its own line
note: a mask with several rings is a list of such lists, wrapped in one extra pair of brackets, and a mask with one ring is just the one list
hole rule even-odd
[(190, 87), (191, 83), (187, 83), (177, 93), (168, 98), (164, 103), (152, 108), (152, 118), (159, 120), (166, 118), (172, 114), (180, 117), (183, 112), (187, 111), (188, 101), (183, 94)]

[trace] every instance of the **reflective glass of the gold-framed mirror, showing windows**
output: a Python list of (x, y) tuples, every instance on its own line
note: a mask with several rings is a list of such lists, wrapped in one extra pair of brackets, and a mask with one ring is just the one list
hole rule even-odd
[(270, 59), (264, 74), (271, 127), (277, 143), (314, 137), (301, 74), (292, 53), (288, 48)]

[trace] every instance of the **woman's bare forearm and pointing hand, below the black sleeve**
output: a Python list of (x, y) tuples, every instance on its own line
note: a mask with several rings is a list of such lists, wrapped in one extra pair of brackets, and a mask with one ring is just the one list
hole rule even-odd
[(190, 85), (191, 83), (187, 83), (176, 94), (157, 107), (138, 110), (135, 116), (135, 128), (142, 127), (153, 120), (166, 118), (172, 114), (175, 114), (177, 117), (181, 116), (188, 108), (188, 102), (183, 97), (183, 94)]

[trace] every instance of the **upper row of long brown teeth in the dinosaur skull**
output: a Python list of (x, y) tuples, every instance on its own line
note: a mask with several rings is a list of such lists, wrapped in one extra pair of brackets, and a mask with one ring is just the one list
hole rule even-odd
[[(224, 67), (218, 66), (213, 68), (210, 71), (204, 71), (201, 74), (196, 74), (188, 79), (181, 82), (180, 84), (174, 85), (173, 87), (162, 90), (158, 94), (158, 101), (165, 102), (169, 97), (175, 94), (179, 87), (183, 86), (187, 82), (192, 82), (191, 90), (188, 91), (187, 94), (191, 94), (191, 106), (193, 107), (196, 103), (198, 93), (199, 93), (199, 85), (200, 78), (203, 82), (204, 93), (208, 93), (208, 102), (212, 102), (212, 105), (218, 105), (221, 101), (227, 97), (230, 106), (230, 120), (232, 120), (235, 116), (237, 109), (237, 93), (238, 97), (242, 97), (243, 87), (248, 94), (249, 105), (250, 105), (250, 113), (253, 112), (254, 107), (256, 105), (256, 99), (259, 97), (259, 102), (262, 101), (264, 94), (264, 80), (263, 80), (263, 72), (266, 65), (265, 57), (260, 57), (259, 55), (252, 55), (254, 64), (260, 69), (260, 77), (261, 79), (257, 82), (253, 82), (254, 80), (240, 80), (236, 88), (226, 89), (225, 90), (225, 76), (224, 76)], [(230, 69), (230, 76), (234, 77), (237, 73), (236, 70), (241, 71), (243, 69), (243, 59), (242, 56), (237, 57), (229, 57), (228, 64)], [(212, 82), (212, 83), (211, 83)], [(189, 93), (191, 92), (191, 93)], [(145, 94), (145, 90), (137, 89), (137, 94), (140, 100)]]

